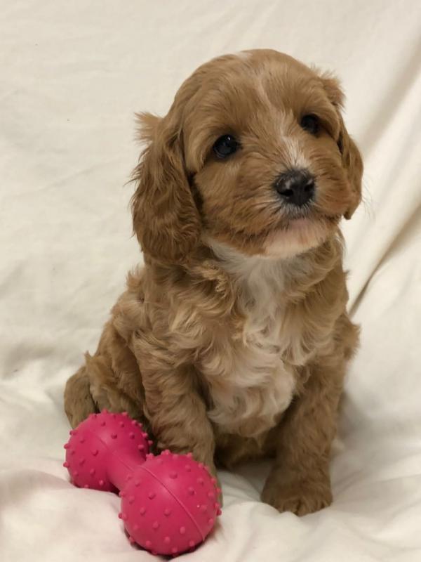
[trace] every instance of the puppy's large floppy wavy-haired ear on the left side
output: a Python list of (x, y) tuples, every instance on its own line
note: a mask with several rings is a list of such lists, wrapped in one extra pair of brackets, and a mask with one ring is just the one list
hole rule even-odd
[(180, 127), (171, 112), (163, 119), (150, 114), (137, 117), (138, 136), (147, 147), (133, 172), (133, 230), (145, 254), (180, 262), (196, 247), (201, 231), (185, 172)]

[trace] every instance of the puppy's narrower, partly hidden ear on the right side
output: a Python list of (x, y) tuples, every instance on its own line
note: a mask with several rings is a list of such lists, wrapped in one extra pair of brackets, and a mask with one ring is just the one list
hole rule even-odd
[(331, 74), (320, 75), (323, 88), (330, 100), (330, 103), (335, 106), (338, 113), (340, 123), (340, 131), (338, 136), (338, 148), (342, 154), (342, 166), (347, 171), (349, 183), (352, 188), (352, 201), (349, 203), (347, 211), (345, 211), (345, 218), (351, 218), (354, 214), (356, 207), (361, 202), (361, 180), (363, 177), (363, 160), (361, 154), (349, 136), (347, 128), (342, 117), (342, 109), (345, 96), (340, 88), (340, 83), (337, 78)]

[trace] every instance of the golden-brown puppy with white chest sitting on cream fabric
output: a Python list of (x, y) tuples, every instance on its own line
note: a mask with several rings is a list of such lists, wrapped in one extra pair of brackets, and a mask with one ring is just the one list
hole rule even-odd
[(338, 81), (269, 50), (215, 58), (168, 115), (139, 116), (128, 275), (95, 355), (67, 382), (72, 426), (127, 410), (159, 449), (231, 467), (274, 456), (263, 501), (332, 501), (330, 446), (358, 329), (342, 216), (363, 166)]

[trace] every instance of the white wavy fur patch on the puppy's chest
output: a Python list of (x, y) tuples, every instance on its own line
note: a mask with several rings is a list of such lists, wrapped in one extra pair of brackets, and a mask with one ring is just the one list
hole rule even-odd
[(283, 265), (219, 246), (215, 251), (235, 275), (247, 320), (242, 334), (216, 339), (203, 358), (213, 400), (208, 415), (223, 431), (258, 437), (277, 423), (295, 388), (295, 367), (283, 361), (290, 345), (283, 329)]

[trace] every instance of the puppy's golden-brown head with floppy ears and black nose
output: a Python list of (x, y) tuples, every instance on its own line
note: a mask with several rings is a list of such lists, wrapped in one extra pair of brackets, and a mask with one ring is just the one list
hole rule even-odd
[(333, 77), (276, 51), (199, 67), (166, 117), (140, 116), (132, 209), (145, 253), (176, 262), (222, 242), (290, 257), (324, 242), (361, 200), (342, 98)]

